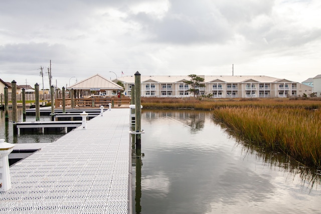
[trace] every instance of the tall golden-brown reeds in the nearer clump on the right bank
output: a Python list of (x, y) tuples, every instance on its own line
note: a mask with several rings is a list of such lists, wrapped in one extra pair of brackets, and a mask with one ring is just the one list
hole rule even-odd
[(224, 107), (213, 117), (245, 139), (321, 167), (321, 111), (305, 108)]

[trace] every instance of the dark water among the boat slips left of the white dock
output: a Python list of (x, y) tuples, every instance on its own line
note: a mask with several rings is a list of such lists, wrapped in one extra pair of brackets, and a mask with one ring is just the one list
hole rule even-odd
[[(18, 108), (18, 121), (22, 121), (22, 108)], [(50, 121), (50, 116), (41, 116), (40, 121)], [(59, 139), (63, 134), (26, 134), (15, 135), (13, 132), (12, 110), (9, 110), (9, 123), (6, 124), (5, 111), (1, 111), (0, 139), (8, 143), (51, 143)], [(27, 116), (26, 121), (36, 121), (35, 116)]]

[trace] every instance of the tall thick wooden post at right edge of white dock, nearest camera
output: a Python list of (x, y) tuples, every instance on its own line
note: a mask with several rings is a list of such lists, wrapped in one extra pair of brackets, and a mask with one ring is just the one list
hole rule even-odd
[[(140, 108), (140, 74), (135, 73), (135, 129), (141, 131), (141, 108)], [(141, 134), (136, 134), (136, 148), (140, 147)]]

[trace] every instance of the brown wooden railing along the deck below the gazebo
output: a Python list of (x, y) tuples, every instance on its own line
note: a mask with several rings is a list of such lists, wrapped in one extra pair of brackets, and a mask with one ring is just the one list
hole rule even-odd
[[(71, 108), (71, 99), (66, 98), (66, 108)], [(123, 97), (106, 97), (106, 98), (76, 98), (75, 99), (75, 108), (93, 108), (99, 106), (108, 106), (111, 103), (112, 107), (121, 106), (121, 105), (129, 105), (130, 98)], [(62, 98), (55, 99), (55, 108), (62, 108)]]

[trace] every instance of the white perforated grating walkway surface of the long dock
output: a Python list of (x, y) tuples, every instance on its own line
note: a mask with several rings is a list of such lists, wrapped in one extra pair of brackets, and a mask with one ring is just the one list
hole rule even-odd
[(129, 109), (111, 109), (10, 167), (0, 213), (126, 213)]

